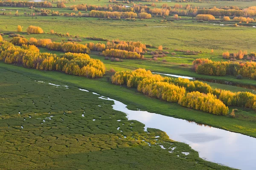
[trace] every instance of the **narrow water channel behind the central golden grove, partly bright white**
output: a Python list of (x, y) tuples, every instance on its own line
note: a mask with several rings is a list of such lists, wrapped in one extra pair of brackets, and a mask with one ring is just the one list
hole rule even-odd
[(195, 77), (187, 77), (187, 76), (180, 76), (180, 75), (175, 75), (175, 74), (165, 74), (165, 73), (157, 73), (157, 72), (152, 72), (154, 74), (162, 74), (166, 76), (172, 76), (172, 77), (180, 77), (183, 79), (193, 79), (193, 80), (200, 80), (204, 82), (213, 82), (213, 83), (218, 83), (218, 84), (223, 84), (223, 85), (232, 85), (240, 88), (247, 88), (251, 89), (253, 91), (256, 91), (256, 85), (246, 85), (238, 82), (229, 82), (225, 80), (216, 80), (216, 79), (205, 79), (205, 78), (195, 78)]

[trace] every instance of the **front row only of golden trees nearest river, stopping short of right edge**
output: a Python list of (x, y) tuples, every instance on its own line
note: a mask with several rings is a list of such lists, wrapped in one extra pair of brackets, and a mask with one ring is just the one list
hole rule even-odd
[(137, 91), (147, 96), (168, 102), (177, 102), (188, 108), (219, 115), (228, 114), (228, 107), (216, 96), (198, 91), (188, 92), (185, 87), (164, 81), (164, 79), (169, 79), (169, 77), (164, 78), (160, 75), (152, 74), (151, 71), (139, 68), (135, 71), (116, 72), (112, 77), (112, 83), (116, 85), (124, 84), (129, 88), (135, 87)]

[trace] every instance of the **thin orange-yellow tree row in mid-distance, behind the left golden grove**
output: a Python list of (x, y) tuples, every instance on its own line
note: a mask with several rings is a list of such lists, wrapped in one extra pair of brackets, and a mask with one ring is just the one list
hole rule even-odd
[(133, 41), (108, 41), (104, 43), (90, 42), (89, 44), (79, 44), (75, 42), (52, 42), (50, 39), (37, 40), (30, 38), (27, 40), (23, 37), (13, 37), (10, 41), (15, 45), (35, 45), (37, 47), (48, 48), (49, 50), (73, 52), (73, 53), (85, 53), (89, 54), (90, 50), (102, 51), (104, 56), (118, 57), (118, 58), (133, 58), (139, 59), (142, 57), (140, 53), (146, 50), (146, 45), (141, 42)]

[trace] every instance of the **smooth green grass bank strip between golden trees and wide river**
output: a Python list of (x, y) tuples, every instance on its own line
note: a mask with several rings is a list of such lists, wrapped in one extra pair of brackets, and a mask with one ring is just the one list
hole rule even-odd
[[(38, 71), (13, 65), (6, 65), (4, 63), (0, 63), (0, 68), (23, 74), (40, 81), (44, 81), (44, 79), (52, 79), (53, 81), (60, 81), (61, 84), (73, 85), (89, 91), (95, 91), (96, 93), (125, 103), (130, 109), (140, 108), (141, 110), (195, 121), (256, 137), (256, 116), (255, 111), (252, 110), (238, 108), (239, 111), (236, 112), (235, 118), (231, 118), (229, 116), (217, 116), (203, 111), (184, 108), (177, 105), (177, 103), (164, 102), (159, 99), (149, 98), (140, 94), (133, 88), (113, 85), (108, 81), (108, 76), (102, 79), (87, 79), (85, 77), (71, 76), (55, 71)], [(233, 88), (233, 86), (226, 86), (226, 88), (228, 87), (231, 89)], [(232, 107), (230, 107), (230, 109), (232, 109)]]

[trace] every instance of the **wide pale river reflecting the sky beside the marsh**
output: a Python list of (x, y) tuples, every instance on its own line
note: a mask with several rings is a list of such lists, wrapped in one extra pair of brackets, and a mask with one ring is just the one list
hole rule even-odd
[(142, 122), (145, 129), (163, 130), (170, 139), (189, 144), (201, 158), (238, 169), (256, 169), (256, 138), (147, 111), (131, 111), (122, 102), (99, 98), (114, 101), (114, 110), (126, 113), (129, 120)]

